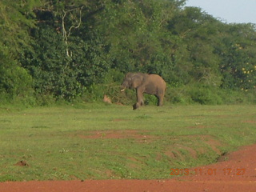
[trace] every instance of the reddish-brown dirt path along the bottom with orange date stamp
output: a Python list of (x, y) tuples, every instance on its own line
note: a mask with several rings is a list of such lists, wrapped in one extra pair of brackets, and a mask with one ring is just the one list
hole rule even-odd
[(170, 170), (183, 175), (175, 179), (0, 182), (0, 192), (256, 191), (256, 145), (242, 147), (226, 158), (209, 166)]

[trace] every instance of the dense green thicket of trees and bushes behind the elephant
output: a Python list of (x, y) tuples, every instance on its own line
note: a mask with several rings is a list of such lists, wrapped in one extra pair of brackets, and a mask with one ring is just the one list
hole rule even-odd
[(160, 74), (174, 103), (256, 102), (255, 25), (186, 0), (1, 0), (0, 37), (2, 103), (126, 103), (129, 71)]

